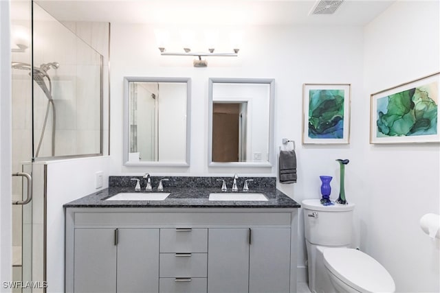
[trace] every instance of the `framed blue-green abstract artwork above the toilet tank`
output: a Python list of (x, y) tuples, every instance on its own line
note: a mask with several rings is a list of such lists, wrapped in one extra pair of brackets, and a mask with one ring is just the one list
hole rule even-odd
[(350, 142), (350, 84), (303, 84), (303, 143)]

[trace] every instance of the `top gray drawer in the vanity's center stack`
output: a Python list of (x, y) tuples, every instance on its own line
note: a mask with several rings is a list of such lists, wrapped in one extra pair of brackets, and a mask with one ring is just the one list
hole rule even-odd
[(160, 229), (161, 253), (207, 253), (207, 228)]

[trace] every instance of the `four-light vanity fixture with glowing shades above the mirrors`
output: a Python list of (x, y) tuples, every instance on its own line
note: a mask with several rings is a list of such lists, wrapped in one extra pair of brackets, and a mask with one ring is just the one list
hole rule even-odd
[(157, 47), (160, 51), (160, 54), (162, 56), (197, 56), (198, 59), (193, 60), (192, 64), (194, 67), (208, 67), (208, 61), (202, 60), (201, 57), (207, 57), (207, 56), (220, 56), (220, 57), (236, 57), (239, 53), (239, 43), (241, 43), (241, 36), (243, 36), (243, 33), (238, 32), (234, 34), (230, 34), (230, 43), (234, 44), (232, 45), (232, 51), (233, 53), (215, 53), (215, 47), (217, 46), (218, 42), (218, 32), (208, 32), (205, 31), (205, 40), (206, 40), (206, 46), (208, 47), (208, 51), (197, 51), (192, 52), (191, 51), (191, 45), (195, 43), (195, 32), (189, 31), (189, 30), (182, 30), (180, 32), (181, 36), (181, 43), (183, 45), (184, 52), (167, 52), (166, 51), (166, 44), (165, 41), (168, 41), (169, 34), (166, 31), (162, 30), (155, 30), (156, 35), (156, 41), (157, 41)]

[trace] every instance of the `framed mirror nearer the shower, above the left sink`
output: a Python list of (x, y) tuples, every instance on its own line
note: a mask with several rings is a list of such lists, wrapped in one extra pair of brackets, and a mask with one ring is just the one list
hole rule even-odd
[(124, 78), (124, 165), (190, 162), (190, 78)]

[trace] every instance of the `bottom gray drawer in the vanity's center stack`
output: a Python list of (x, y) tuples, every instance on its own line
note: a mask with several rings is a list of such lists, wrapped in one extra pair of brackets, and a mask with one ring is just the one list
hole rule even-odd
[(160, 293), (206, 293), (208, 290), (206, 278), (160, 278)]

